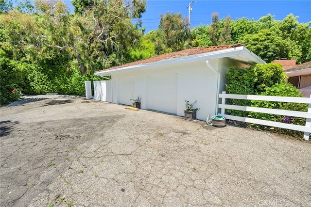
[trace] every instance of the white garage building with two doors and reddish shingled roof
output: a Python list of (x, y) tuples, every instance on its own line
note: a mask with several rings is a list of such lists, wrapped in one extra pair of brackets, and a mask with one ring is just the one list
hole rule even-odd
[[(232, 66), (265, 64), (242, 44), (191, 48), (96, 71), (111, 76), (112, 103), (132, 105), (132, 95), (142, 97), (141, 109), (184, 116), (185, 99), (197, 100), (196, 117), (218, 113), (218, 94), (225, 91), (225, 74)], [(95, 86), (95, 85), (94, 85)], [(94, 88), (95, 90), (95, 88)]]

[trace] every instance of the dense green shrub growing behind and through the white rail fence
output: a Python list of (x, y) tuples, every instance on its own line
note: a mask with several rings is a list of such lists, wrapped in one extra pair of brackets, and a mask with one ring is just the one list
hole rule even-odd
[[(285, 73), (279, 64), (257, 64), (249, 68), (230, 67), (226, 74), (226, 89), (229, 94), (245, 94), (260, 96), (290, 96), (302, 97), (302, 94), (290, 83), (284, 81)], [(257, 101), (257, 100), (239, 100), (233, 99), (229, 104), (240, 106), (252, 106), (259, 108), (280, 109), (289, 111), (307, 111), (307, 104)], [(238, 110), (227, 110), (231, 115), (251, 117), (269, 121), (285, 122), (296, 125), (304, 125), (305, 118), (285, 117), (259, 112), (247, 112)], [(261, 125), (251, 124), (250, 127), (261, 130), (270, 130), (282, 134), (301, 137), (303, 132), (293, 131), (284, 128), (273, 128)]]

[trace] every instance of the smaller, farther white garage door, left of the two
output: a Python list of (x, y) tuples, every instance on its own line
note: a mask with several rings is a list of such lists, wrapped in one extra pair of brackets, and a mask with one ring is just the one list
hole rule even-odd
[(119, 79), (119, 103), (125, 105), (132, 105), (132, 101), (130, 100), (133, 96), (135, 96), (135, 78), (120, 78)]

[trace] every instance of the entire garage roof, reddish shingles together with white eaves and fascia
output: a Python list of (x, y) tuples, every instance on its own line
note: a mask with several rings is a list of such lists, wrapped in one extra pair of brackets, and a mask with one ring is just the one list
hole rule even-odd
[(163, 66), (168, 64), (186, 63), (203, 59), (216, 59), (223, 57), (231, 57), (244, 63), (261, 63), (265, 64), (257, 55), (249, 51), (243, 44), (210, 46), (204, 48), (190, 48), (168, 54), (158, 55), (144, 60), (135, 61), (119, 66), (114, 66), (104, 70), (94, 72), (95, 75), (109, 75), (113, 72), (121, 70), (129, 70), (134, 68)]

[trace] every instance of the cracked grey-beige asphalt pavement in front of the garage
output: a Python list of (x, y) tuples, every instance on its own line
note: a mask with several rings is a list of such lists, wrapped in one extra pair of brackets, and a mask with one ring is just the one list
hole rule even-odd
[(77, 96), (0, 115), (1, 207), (310, 206), (310, 141)]

